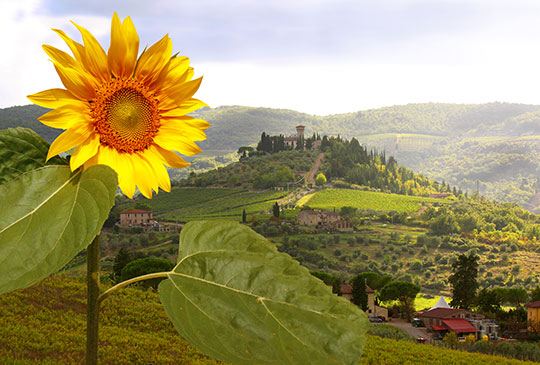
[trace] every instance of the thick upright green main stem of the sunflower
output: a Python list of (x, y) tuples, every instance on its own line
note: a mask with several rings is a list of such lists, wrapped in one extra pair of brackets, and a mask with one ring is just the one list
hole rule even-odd
[(86, 364), (97, 365), (99, 340), (99, 247), (98, 234), (86, 249)]

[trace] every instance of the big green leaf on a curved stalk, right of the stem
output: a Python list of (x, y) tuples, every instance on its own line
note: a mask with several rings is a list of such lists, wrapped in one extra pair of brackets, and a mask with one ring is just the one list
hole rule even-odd
[(235, 364), (358, 364), (367, 317), (290, 256), (234, 222), (191, 222), (159, 285), (177, 331)]

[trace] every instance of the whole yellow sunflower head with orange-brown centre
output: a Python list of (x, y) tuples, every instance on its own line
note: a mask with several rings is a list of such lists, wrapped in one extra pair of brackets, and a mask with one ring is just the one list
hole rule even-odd
[(83, 44), (53, 29), (67, 43), (73, 57), (44, 45), (64, 89), (50, 89), (28, 98), (54, 109), (40, 118), (43, 124), (65, 129), (51, 144), (47, 160), (75, 148), (70, 167), (110, 166), (118, 174), (122, 192), (133, 198), (135, 186), (147, 198), (159, 188), (170, 191), (167, 169), (186, 167), (177, 151), (201, 152), (194, 141), (206, 139), (206, 121), (186, 114), (206, 106), (192, 98), (202, 77), (192, 80), (187, 57), (172, 55), (168, 35), (140, 56), (133, 22), (115, 13), (111, 44), (105, 53), (90, 32), (73, 23)]

